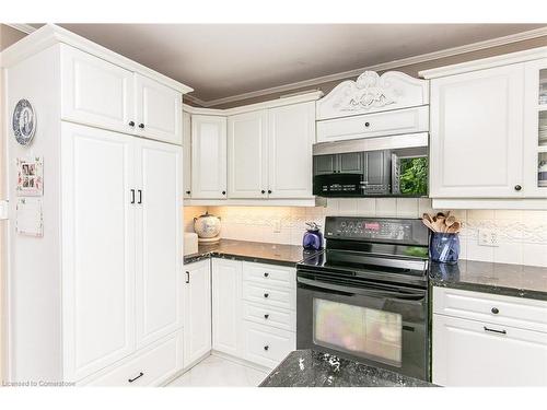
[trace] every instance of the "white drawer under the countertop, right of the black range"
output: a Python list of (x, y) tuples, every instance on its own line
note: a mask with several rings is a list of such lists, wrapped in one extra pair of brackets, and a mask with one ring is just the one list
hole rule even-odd
[(544, 301), (434, 288), (433, 312), (547, 332), (547, 302)]

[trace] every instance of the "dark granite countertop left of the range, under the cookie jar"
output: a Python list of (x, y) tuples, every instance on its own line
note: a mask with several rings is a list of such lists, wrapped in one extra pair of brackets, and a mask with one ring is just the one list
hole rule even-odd
[(319, 251), (322, 250), (304, 250), (302, 246), (296, 245), (220, 239), (216, 244), (199, 245), (198, 253), (186, 255), (184, 262), (191, 263), (213, 256), (217, 258), (294, 267), (298, 262)]

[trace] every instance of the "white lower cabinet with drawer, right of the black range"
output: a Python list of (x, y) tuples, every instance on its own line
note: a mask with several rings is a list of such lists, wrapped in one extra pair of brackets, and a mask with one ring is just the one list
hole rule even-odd
[[(531, 330), (526, 318), (538, 309), (543, 315), (536, 317), (543, 320), (534, 323), (540, 330)], [(547, 303), (542, 301), (435, 288), (432, 382), (547, 386), (547, 332), (542, 324), (546, 317)]]

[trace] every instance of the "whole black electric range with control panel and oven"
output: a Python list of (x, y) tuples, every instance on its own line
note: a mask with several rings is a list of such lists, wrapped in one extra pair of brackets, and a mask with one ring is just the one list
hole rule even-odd
[(429, 379), (429, 233), (417, 219), (327, 216), (296, 265), (296, 347)]

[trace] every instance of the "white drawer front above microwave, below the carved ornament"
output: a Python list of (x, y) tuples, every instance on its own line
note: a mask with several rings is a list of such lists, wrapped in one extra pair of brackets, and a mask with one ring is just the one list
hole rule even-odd
[(317, 142), (422, 132), (428, 121), (427, 106), (318, 121)]

